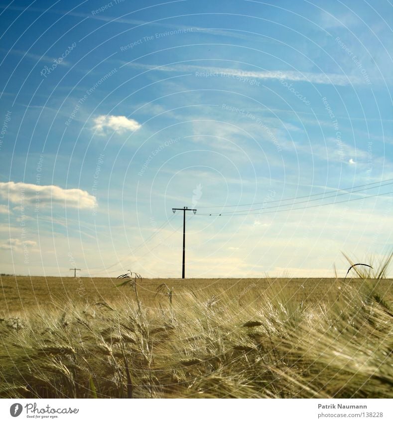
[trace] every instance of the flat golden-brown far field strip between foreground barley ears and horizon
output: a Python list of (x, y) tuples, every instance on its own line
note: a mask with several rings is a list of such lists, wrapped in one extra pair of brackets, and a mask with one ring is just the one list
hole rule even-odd
[[(262, 292), (270, 290), (280, 294), (285, 291), (287, 296), (295, 296), (308, 304), (330, 303), (334, 301), (337, 288), (343, 279), (334, 278), (304, 278), (304, 279), (143, 279), (138, 284), (141, 301), (146, 307), (156, 307), (167, 298), (165, 292), (158, 295), (156, 289), (162, 283), (173, 287), (173, 302), (181, 298), (185, 292), (206, 296), (207, 290), (228, 297), (243, 297), (247, 292), (253, 298), (258, 298)], [(388, 300), (393, 299), (393, 280), (375, 279), (380, 291)], [(58, 303), (117, 301), (124, 298), (124, 288), (116, 287), (116, 278), (55, 278), (55, 277), (25, 277), (0, 276), (0, 317), (27, 316), (30, 311), (40, 312), (48, 306), (57, 307)], [(353, 287), (361, 287), (362, 279), (345, 281)], [(303, 288), (303, 287), (304, 288)]]

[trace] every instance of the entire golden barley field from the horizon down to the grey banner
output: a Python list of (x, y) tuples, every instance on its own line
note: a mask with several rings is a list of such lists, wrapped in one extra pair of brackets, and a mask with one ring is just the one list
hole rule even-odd
[(2, 276), (0, 396), (391, 398), (389, 261), (346, 280)]

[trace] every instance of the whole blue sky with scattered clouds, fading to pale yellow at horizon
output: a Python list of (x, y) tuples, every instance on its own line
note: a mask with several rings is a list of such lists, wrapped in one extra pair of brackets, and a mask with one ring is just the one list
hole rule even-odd
[(388, 1), (0, 6), (2, 273), (333, 276), (392, 247)]

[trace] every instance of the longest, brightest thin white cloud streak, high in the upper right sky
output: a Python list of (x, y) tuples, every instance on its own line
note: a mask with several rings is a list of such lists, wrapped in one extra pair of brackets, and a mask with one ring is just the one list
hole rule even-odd
[[(128, 62), (124, 65), (145, 70), (157, 70), (161, 72), (195, 72), (195, 76), (203, 76), (208, 72), (214, 76), (234, 76), (251, 79), (276, 79), (287, 81), (309, 82), (311, 84), (329, 84), (329, 85), (351, 85), (364, 84), (363, 78), (356, 76), (339, 75), (336, 73), (316, 73), (316, 72), (301, 72), (301, 71), (246, 71), (241, 69), (228, 69), (220, 67), (203, 67), (197, 65), (174, 65), (174, 66), (160, 66), (160, 65), (146, 65), (142, 63)], [(199, 73), (201, 75), (199, 75)]]

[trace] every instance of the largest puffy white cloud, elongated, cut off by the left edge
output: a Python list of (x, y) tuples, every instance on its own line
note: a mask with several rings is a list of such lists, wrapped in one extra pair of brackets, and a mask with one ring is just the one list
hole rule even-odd
[(20, 207), (25, 204), (61, 205), (79, 209), (97, 206), (96, 198), (79, 188), (64, 189), (56, 185), (35, 185), (24, 182), (0, 182), (0, 197)]

